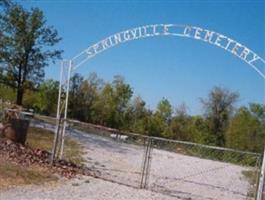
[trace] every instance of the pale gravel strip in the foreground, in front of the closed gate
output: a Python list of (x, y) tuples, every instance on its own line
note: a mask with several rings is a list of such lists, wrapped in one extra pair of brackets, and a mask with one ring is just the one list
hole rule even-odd
[(175, 197), (82, 177), (56, 185), (18, 187), (3, 194), (1, 200), (173, 200)]

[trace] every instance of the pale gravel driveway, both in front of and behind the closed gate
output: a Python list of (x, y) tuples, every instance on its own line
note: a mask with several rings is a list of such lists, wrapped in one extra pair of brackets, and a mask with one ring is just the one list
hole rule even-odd
[[(47, 124), (45, 127), (53, 129)], [(242, 174), (248, 168), (154, 149), (149, 190), (136, 189), (140, 185), (143, 147), (78, 130), (67, 134), (85, 147), (87, 166), (114, 182), (82, 177), (56, 187), (18, 188), (1, 194), (0, 199), (245, 200), (250, 187)]]

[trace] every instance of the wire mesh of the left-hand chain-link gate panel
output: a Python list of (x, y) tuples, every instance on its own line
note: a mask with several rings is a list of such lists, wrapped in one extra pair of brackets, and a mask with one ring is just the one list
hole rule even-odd
[(85, 165), (97, 171), (99, 178), (140, 187), (147, 137), (92, 129), (80, 123), (71, 123), (68, 131), (82, 141)]

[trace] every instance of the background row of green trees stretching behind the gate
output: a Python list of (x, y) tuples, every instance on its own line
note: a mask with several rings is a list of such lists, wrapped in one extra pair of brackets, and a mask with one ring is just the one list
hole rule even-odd
[[(58, 81), (46, 80), (35, 91), (26, 90), (24, 107), (56, 114)], [(0, 96), (14, 100), (14, 89), (0, 85)], [(68, 116), (124, 131), (260, 152), (265, 141), (265, 105), (250, 103), (236, 109), (238, 94), (213, 88), (202, 103), (204, 115), (189, 115), (185, 104), (173, 107), (162, 98), (155, 110), (147, 108), (123, 77), (110, 82), (92, 73), (71, 79)]]

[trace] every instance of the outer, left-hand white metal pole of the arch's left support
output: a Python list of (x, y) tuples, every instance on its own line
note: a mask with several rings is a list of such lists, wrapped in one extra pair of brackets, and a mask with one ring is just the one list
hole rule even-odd
[(53, 164), (54, 157), (56, 154), (57, 144), (58, 144), (58, 130), (60, 126), (60, 107), (61, 107), (61, 93), (62, 93), (62, 79), (63, 79), (63, 66), (64, 61), (61, 62), (61, 72), (60, 72), (60, 83), (59, 83), (59, 94), (58, 94), (58, 102), (57, 102), (57, 114), (56, 114), (56, 127), (54, 130), (54, 139), (53, 139), (53, 147), (52, 147), (52, 155), (51, 155), (51, 164)]

